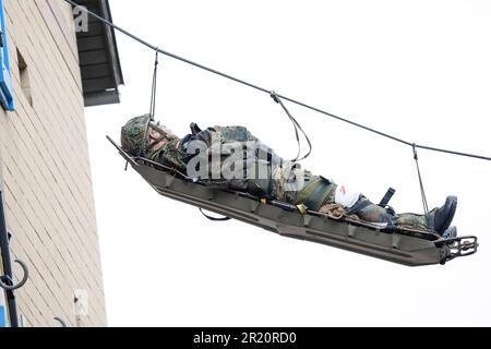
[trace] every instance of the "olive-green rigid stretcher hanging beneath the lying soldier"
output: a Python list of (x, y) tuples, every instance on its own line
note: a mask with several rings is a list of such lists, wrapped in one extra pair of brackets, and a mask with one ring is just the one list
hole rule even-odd
[(152, 160), (132, 157), (109, 136), (119, 154), (159, 194), (280, 236), (326, 244), (372, 257), (407, 265), (445, 264), (477, 252), (477, 237), (442, 239), (426, 230), (381, 227), (367, 221), (300, 213), (282, 202), (262, 203), (243, 192), (224, 190), (192, 181), (184, 173)]

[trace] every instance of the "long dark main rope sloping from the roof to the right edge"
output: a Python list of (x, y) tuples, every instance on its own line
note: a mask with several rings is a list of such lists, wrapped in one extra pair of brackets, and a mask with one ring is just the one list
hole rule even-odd
[[(122, 33), (122, 34), (124, 34), (124, 35), (127, 35), (127, 36), (129, 36), (129, 37), (131, 37), (132, 39), (136, 40), (137, 43), (142, 44), (143, 46), (146, 46), (146, 47), (151, 48), (151, 49), (154, 50), (154, 51), (157, 51), (157, 52), (159, 52), (159, 53), (161, 53), (161, 55), (165, 55), (165, 56), (167, 56), (167, 57), (177, 59), (177, 60), (179, 60), (179, 61), (181, 61), (181, 62), (184, 62), (184, 63), (187, 63), (187, 64), (194, 65), (194, 67), (196, 67), (196, 68), (203, 69), (203, 70), (205, 70), (205, 71), (208, 71), (208, 72), (213, 73), (213, 74), (220, 75), (220, 76), (226, 77), (226, 79), (228, 79), (228, 80), (235, 81), (235, 82), (237, 82), (237, 83), (239, 83), (239, 84), (249, 86), (249, 87), (251, 87), (251, 88), (255, 88), (255, 89), (261, 91), (261, 92), (266, 93), (266, 94), (271, 94), (271, 89), (267, 89), (267, 88), (264, 88), (264, 87), (261, 87), (261, 86), (251, 84), (251, 83), (249, 83), (249, 82), (247, 82), (247, 81), (243, 81), (243, 80), (241, 80), (241, 79), (231, 76), (231, 75), (229, 75), (229, 74), (223, 73), (223, 72), (217, 71), (217, 70), (215, 70), (215, 69), (212, 69), (212, 68), (205, 67), (205, 65), (203, 65), (203, 64), (193, 62), (193, 61), (191, 61), (191, 60), (189, 60), (189, 59), (187, 59), (187, 58), (183, 58), (183, 57), (173, 55), (173, 53), (171, 53), (171, 52), (165, 51), (165, 50), (158, 48), (157, 46), (154, 46), (154, 45), (152, 45), (152, 44), (149, 44), (149, 43), (143, 40), (142, 38), (137, 37), (136, 35), (131, 34), (130, 32), (128, 32), (128, 31), (125, 31), (125, 29), (119, 27), (118, 25), (116, 25), (116, 24), (113, 24), (112, 22), (106, 20), (105, 17), (101, 17), (101, 16), (97, 15), (96, 13), (94, 13), (94, 12), (87, 10), (86, 8), (79, 5), (79, 4), (75, 3), (74, 1), (72, 1), (72, 0), (64, 0), (64, 1), (68, 2), (68, 3), (70, 3), (70, 4), (72, 4), (73, 7), (76, 7), (77, 9), (81, 9), (82, 11), (84, 11), (84, 12), (88, 13), (89, 15), (92, 15), (93, 17), (95, 17), (95, 19), (99, 20), (100, 22), (107, 24), (108, 26), (110, 26), (110, 27), (117, 29), (118, 32), (120, 32), (120, 33)], [(391, 135), (391, 134), (387, 134), (387, 133), (378, 131), (378, 130), (375, 130), (375, 129), (366, 127), (366, 125), (360, 124), (360, 123), (358, 123), (358, 122), (355, 122), (355, 121), (351, 121), (351, 120), (348, 120), (348, 119), (338, 117), (338, 116), (336, 116), (336, 115), (334, 115), (334, 113), (327, 112), (327, 111), (325, 111), (325, 110), (322, 110), (322, 109), (312, 107), (312, 106), (310, 106), (310, 105), (308, 105), (308, 104), (304, 104), (304, 103), (302, 103), (302, 101), (296, 100), (296, 99), (294, 99), (294, 98), (290, 98), (290, 97), (287, 97), (287, 96), (283, 96), (283, 95), (280, 95), (280, 94), (277, 94), (276, 96), (277, 96), (278, 98), (280, 98), (280, 99), (288, 100), (288, 101), (290, 101), (290, 103), (292, 103), (292, 104), (299, 105), (299, 106), (304, 107), (304, 108), (307, 108), (307, 109), (310, 109), (310, 110), (316, 111), (316, 112), (319, 112), (319, 113), (325, 115), (325, 116), (327, 116), (327, 117), (337, 119), (337, 120), (339, 120), (339, 121), (349, 123), (349, 124), (351, 124), (351, 125), (354, 125), (354, 127), (357, 127), (357, 128), (360, 128), (360, 129), (362, 129), (362, 130), (366, 130), (366, 131), (369, 131), (369, 132), (379, 134), (379, 135), (381, 135), (381, 136), (383, 136), (383, 137), (393, 140), (393, 141), (395, 141), (395, 142), (398, 142), (398, 143), (402, 143), (402, 144), (405, 144), (405, 145), (408, 145), (408, 146), (411, 146), (411, 147), (414, 147), (414, 148), (427, 149), (427, 151), (439, 152), (439, 153), (446, 153), (446, 154), (457, 155), (457, 156), (471, 157), (471, 158), (482, 159), (482, 160), (491, 160), (491, 157), (489, 157), (489, 156), (475, 155), (475, 154), (463, 153), (463, 152), (455, 152), (455, 151), (448, 151), (448, 149), (438, 148), (438, 147), (433, 147), (433, 146), (426, 146), (426, 145), (419, 145), (419, 144), (416, 144), (416, 143), (407, 142), (407, 141), (405, 141), (405, 140), (398, 139), (398, 137), (393, 136), (393, 135)]]

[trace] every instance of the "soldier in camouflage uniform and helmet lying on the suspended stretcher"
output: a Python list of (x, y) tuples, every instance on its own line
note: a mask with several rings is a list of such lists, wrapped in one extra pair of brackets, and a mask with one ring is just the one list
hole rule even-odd
[(451, 227), (457, 197), (448, 196), (441, 207), (428, 214), (396, 214), (390, 206), (373, 204), (359, 192), (322, 176), (302, 170), (299, 164), (283, 159), (244, 127), (214, 127), (180, 139), (146, 116), (129, 120), (121, 129), (121, 147), (128, 154), (175, 168), (188, 177), (248, 192), (261, 198), (286, 202), (297, 207), (327, 213), (333, 206), (347, 215), (387, 226), (435, 231), (443, 238), (456, 237)]

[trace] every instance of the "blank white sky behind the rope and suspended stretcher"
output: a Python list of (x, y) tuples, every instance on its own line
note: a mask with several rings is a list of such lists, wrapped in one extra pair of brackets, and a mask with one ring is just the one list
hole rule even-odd
[[(160, 48), (419, 144), (491, 156), (489, 1), (111, 1), (113, 21)], [(420, 151), (431, 207), (477, 254), (406, 267), (211, 222), (158, 195), (106, 141), (149, 108), (154, 52), (118, 35), (121, 104), (86, 110), (110, 326), (490, 326), (491, 164)], [(397, 212), (422, 210), (410, 147), (295, 105), (304, 168)], [(178, 134), (242, 124), (286, 157), (291, 123), (263, 93), (161, 57), (157, 119)]]

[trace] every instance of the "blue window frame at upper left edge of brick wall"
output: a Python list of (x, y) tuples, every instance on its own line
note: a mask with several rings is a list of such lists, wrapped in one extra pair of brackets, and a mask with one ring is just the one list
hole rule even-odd
[(14, 110), (3, 0), (0, 0), (0, 104), (5, 110)]

